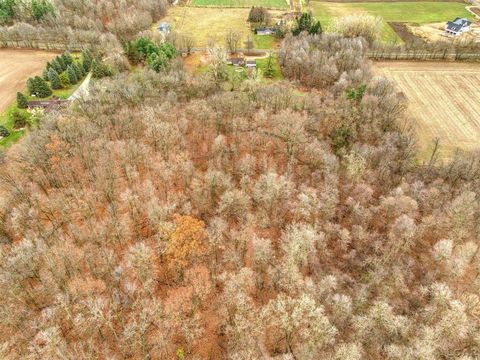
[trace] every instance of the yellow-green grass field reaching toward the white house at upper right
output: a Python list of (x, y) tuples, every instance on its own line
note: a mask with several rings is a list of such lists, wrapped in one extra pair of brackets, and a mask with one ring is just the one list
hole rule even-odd
[(465, 4), (457, 2), (372, 2), (372, 3), (331, 3), (313, 1), (310, 3), (314, 16), (327, 29), (336, 17), (355, 13), (380, 16), (384, 20), (381, 39), (385, 42), (400, 42), (400, 38), (387, 22), (408, 22), (428, 24), (446, 22), (456, 17), (472, 18)]

